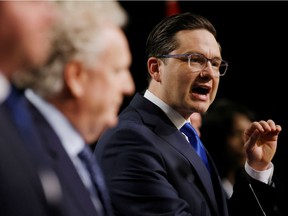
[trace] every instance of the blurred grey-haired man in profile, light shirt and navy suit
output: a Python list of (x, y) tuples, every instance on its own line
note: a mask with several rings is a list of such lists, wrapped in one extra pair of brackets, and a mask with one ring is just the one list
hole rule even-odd
[(116, 1), (61, 1), (47, 64), (19, 74), (18, 86), (37, 122), (46, 154), (63, 186), (66, 215), (112, 215), (101, 169), (87, 144), (118, 122), (124, 96), (134, 92), (132, 61)]

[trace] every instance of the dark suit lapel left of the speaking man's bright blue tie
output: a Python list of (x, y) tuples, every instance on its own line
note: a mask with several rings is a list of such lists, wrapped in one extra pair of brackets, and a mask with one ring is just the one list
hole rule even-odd
[[(197, 153), (192, 149), (190, 143), (186, 140), (184, 135), (173, 125), (170, 119), (159, 107), (140, 94), (136, 94), (131, 101), (131, 106), (137, 109), (139, 114), (142, 116), (143, 122), (149, 127), (153, 128), (161, 139), (165, 140), (167, 144), (171, 145), (175, 149), (175, 151), (180, 152), (185, 158), (187, 158), (187, 160), (190, 161), (201, 182), (203, 183), (213, 207), (216, 209), (216, 212), (218, 212), (218, 205), (216, 196), (214, 194), (210, 173)], [(210, 157), (209, 160), (211, 160)], [(215, 173), (214, 166), (212, 172)]]

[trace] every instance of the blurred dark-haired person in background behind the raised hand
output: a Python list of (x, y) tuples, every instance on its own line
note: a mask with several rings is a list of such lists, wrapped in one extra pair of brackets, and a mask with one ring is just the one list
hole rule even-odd
[(255, 120), (256, 114), (248, 107), (227, 99), (215, 101), (202, 118), (201, 139), (215, 161), (228, 198), (247, 159), (244, 131)]

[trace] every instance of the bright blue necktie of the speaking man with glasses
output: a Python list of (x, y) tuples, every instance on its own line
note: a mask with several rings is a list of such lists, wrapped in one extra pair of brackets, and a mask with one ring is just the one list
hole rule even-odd
[(188, 137), (190, 144), (195, 149), (196, 153), (202, 159), (208, 171), (210, 172), (209, 162), (207, 159), (205, 148), (195, 129), (190, 123), (186, 122), (185, 125), (180, 129), (180, 131)]

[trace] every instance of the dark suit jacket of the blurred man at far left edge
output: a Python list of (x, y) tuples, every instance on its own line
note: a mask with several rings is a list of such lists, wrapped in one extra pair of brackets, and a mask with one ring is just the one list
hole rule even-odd
[(57, 215), (53, 205), (46, 201), (38, 171), (9, 110), (3, 105), (0, 105), (0, 137), (0, 215)]

